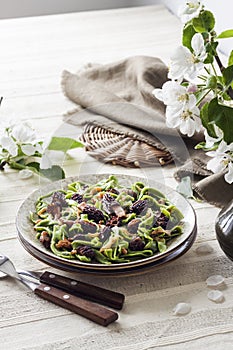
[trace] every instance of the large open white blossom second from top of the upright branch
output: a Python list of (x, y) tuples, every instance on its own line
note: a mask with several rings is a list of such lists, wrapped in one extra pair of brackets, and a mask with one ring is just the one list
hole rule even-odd
[(179, 46), (171, 56), (168, 78), (182, 81), (193, 80), (204, 68), (207, 57), (204, 39), (200, 33), (194, 34), (191, 40), (193, 52), (187, 47)]

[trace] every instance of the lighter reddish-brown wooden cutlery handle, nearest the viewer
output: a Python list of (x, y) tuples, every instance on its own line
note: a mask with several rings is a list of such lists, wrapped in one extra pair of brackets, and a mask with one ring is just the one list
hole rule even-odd
[(118, 318), (118, 314), (114, 311), (43, 283), (35, 289), (35, 293), (43, 299), (84, 316), (101, 326), (107, 326)]

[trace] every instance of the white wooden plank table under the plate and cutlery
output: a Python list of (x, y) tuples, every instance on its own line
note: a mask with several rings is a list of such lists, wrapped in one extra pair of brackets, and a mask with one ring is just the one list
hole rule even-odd
[[(0, 117), (27, 120), (46, 136), (63, 130), (62, 116), (73, 108), (62, 94), (63, 69), (76, 71), (87, 62), (111, 62), (132, 55), (154, 55), (166, 63), (180, 42), (179, 21), (163, 6), (139, 7), (0, 22)], [(77, 137), (80, 131), (76, 131)], [(67, 176), (84, 173), (126, 173), (163, 179), (176, 188), (174, 167), (125, 169), (104, 165), (72, 152), (64, 162)], [(18, 268), (59, 272), (29, 255), (17, 239), (19, 205), (43, 184), (37, 177), (20, 180), (18, 173), (0, 173), (0, 252)], [(36, 297), (10, 278), (0, 280), (0, 348), (6, 349), (230, 349), (233, 341), (232, 263), (215, 239), (219, 209), (192, 201), (198, 217), (193, 247), (178, 260), (140, 276), (95, 278), (73, 274), (126, 295), (117, 322), (107, 328)], [(213, 252), (198, 255), (206, 243)], [(71, 274), (64, 272), (67, 276)], [(208, 300), (205, 280), (225, 277), (224, 302)], [(173, 315), (178, 302), (191, 313)]]

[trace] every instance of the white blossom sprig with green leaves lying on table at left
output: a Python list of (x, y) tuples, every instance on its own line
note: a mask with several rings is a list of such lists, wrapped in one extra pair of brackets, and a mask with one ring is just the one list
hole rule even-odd
[[(0, 121), (0, 171), (7, 167), (20, 168), (22, 169), (19, 172), (20, 179), (27, 179), (33, 173), (60, 179), (64, 176), (62, 164), (64, 154), (67, 152), (65, 144), (67, 139), (69, 138), (50, 136), (45, 140), (39, 140), (34, 129), (27, 123), (15, 122), (8, 125)], [(73, 141), (75, 145), (72, 149), (82, 147), (81, 143)], [(56, 166), (53, 167), (54, 164)], [(52, 171), (42, 171), (51, 168)]]

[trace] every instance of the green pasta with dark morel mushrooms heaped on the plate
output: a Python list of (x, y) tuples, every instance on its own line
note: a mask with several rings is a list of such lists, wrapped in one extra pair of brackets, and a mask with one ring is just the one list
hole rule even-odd
[(55, 255), (117, 264), (166, 251), (182, 234), (183, 215), (155, 188), (130, 187), (109, 176), (96, 184), (73, 182), (38, 198), (30, 213), (36, 237)]

